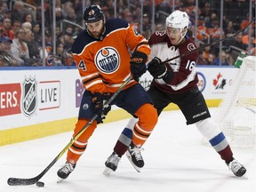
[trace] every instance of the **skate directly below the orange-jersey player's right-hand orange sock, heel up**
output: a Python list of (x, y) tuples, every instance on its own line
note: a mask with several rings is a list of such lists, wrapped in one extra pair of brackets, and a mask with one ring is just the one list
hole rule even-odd
[(137, 172), (140, 172), (141, 168), (144, 166), (144, 160), (140, 153), (142, 150), (144, 150), (144, 148), (136, 147), (131, 143), (130, 147), (126, 151), (126, 156)]

